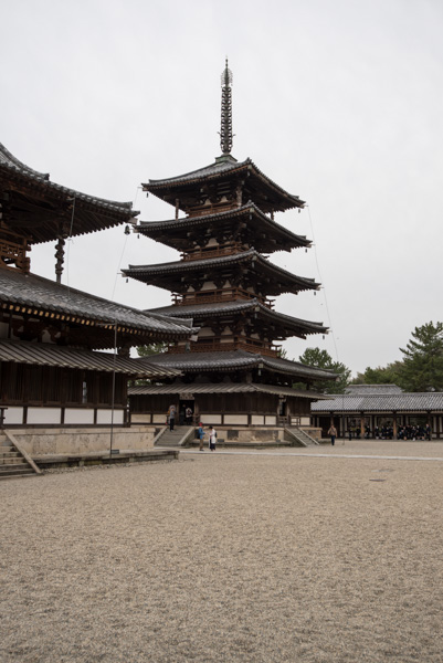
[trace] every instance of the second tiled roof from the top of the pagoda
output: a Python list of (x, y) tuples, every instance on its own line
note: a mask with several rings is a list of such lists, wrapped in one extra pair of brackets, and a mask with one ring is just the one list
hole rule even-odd
[[(199, 232), (200, 229), (207, 230), (212, 225), (215, 229), (217, 234), (218, 228), (224, 228), (226, 223), (230, 223), (233, 220), (247, 220), (250, 218), (253, 219), (252, 230), (255, 235), (255, 243), (259, 241), (259, 238), (256, 236), (259, 234), (257, 230), (261, 229), (262, 232), (266, 232), (266, 239), (260, 241), (261, 244), (263, 244), (263, 251), (265, 253), (278, 250), (291, 251), (291, 249), (296, 246), (309, 246), (312, 243), (306, 236), (295, 234), (291, 232), (291, 230), (279, 225), (279, 223), (273, 221), (252, 201), (249, 201), (246, 204), (239, 208), (212, 214), (186, 217), (184, 219), (169, 219), (168, 221), (140, 221), (134, 231), (140, 232), (154, 240), (161, 241), (162, 244), (167, 244), (173, 249), (179, 248), (182, 251), (186, 251), (189, 249), (189, 230)], [(272, 240), (270, 241), (267, 238), (277, 240), (278, 244), (273, 245)]]

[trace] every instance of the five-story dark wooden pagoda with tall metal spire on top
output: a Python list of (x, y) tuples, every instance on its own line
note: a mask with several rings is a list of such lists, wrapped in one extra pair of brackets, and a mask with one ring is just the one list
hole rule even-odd
[[(165, 421), (170, 403), (190, 407), (196, 420), (224, 427), (278, 427), (308, 423), (318, 394), (316, 380), (328, 371), (279, 358), (275, 341), (291, 336), (325, 334), (319, 323), (277, 313), (274, 297), (318, 290), (312, 278), (296, 276), (267, 255), (309, 246), (274, 220), (275, 212), (303, 208), (304, 201), (266, 177), (251, 159), (231, 155), (232, 74), (222, 74), (222, 155), (205, 168), (164, 180), (144, 190), (175, 207), (175, 219), (140, 222), (135, 229), (181, 252), (181, 260), (129, 265), (126, 276), (172, 293), (172, 305), (151, 312), (192, 318), (200, 327), (193, 343), (178, 340), (150, 362), (183, 371), (165, 385), (130, 390), (134, 415)], [(186, 217), (180, 218), (179, 213)], [(140, 359), (143, 361), (143, 359)], [(307, 390), (292, 389), (303, 382)], [(235, 439), (230, 430), (228, 436)], [(265, 431), (270, 436), (270, 431)], [(275, 436), (275, 435), (274, 435)]]

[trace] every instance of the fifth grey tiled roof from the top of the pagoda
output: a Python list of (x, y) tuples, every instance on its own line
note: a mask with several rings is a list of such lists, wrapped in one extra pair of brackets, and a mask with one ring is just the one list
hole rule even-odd
[[(136, 359), (145, 361), (145, 358)], [(336, 375), (323, 368), (306, 366), (299, 361), (281, 359), (278, 357), (267, 357), (259, 352), (249, 352), (247, 350), (228, 350), (214, 352), (161, 352), (151, 355), (148, 359), (155, 366), (176, 368), (183, 372), (223, 372), (232, 370), (252, 370), (254, 368), (265, 368), (273, 373), (288, 375), (296, 378), (306, 378), (309, 380), (335, 380)]]

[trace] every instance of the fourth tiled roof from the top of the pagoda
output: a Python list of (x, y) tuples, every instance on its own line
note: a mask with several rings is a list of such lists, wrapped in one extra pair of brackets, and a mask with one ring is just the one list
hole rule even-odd
[(235, 302), (221, 302), (214, 304), (186, 304), (152, 308), (146, 313), (159, 313), (169, 317), (191, 318), (200, 326), (200, 320), (205, 317), (223, 318), (232, 315), (256, 314), (261, 319), (288, 329), (294, 336), (306, 338), (308, 334), (327, 334), (328, 328), (323, 323), (303, 320), (264, 306), (259, 299), (236, 299)]

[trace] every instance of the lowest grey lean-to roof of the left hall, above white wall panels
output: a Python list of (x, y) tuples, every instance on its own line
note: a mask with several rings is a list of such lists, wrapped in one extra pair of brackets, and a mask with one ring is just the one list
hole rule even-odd
[(77, 370), (123, 373), (133, 378), (160, 379), (177, 377), (181, 371), (158, 367), (148, 361), (141, 367), (135, 359), (112, 352), (56, 346), (48, 343), (0, 340), (0, 361), (30, 366), (52, 366)]

